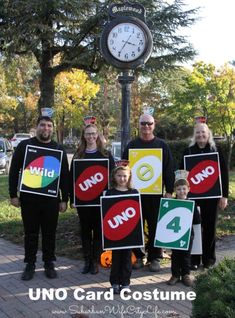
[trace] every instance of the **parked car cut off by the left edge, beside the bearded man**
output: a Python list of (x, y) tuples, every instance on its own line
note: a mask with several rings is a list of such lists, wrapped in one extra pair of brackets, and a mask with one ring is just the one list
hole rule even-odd
[(13, 147), (6, 138), (0, 138), (0, 171), (4, 174), (9, 173)]

